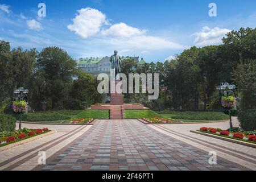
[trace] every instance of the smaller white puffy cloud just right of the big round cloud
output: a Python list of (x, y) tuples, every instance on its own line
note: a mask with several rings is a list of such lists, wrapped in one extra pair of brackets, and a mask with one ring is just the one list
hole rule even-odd
[(127, 26), (125, 23), (113, 24), (108, 30), (102, 30), (102, 35), (119, 36), (129, 38), (134, 35), (143, 35), (146, 31)]

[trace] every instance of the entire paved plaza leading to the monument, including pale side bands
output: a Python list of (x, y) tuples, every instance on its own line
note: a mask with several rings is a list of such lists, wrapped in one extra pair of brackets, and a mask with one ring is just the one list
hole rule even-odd
[[(226, 123), (148, 126), (137, 120), (101, 120), (93, 126), (47, 125), (57, 133), (0, 152), (0, 170), (255, 170), (255, 148), (189, 133), (191, 127)], [(213, 150), (217, 165), (208, 163)], [(46, 151), (47, 165), (38, 165), (38, 151)]]

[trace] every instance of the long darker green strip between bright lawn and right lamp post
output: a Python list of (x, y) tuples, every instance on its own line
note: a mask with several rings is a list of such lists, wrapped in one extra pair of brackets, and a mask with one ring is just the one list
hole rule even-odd
[(181, 119), (184, 122), (197, 121), (221, 121), (229, 119), (229, 116), (221, 112), (202, 112), (202, 111), (172, 111), (164, 110), (158, 112), (158, 114), (165, 115), (172, 119)]

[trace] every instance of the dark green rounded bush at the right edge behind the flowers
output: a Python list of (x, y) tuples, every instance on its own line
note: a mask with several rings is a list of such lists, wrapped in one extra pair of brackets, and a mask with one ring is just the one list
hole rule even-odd
[(245, 130), (256, 130), (256, 109), (238, 111), (240, 126)]

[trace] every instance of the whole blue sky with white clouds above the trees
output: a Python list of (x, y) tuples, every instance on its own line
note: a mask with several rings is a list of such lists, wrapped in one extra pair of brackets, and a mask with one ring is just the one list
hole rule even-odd
[[(46, 4), (46, 17), (38, 4)], [(209, 3), (217, 16), (210, 17)], [(172, 59), (191, 46), (221, 43), (231, 30), (256, 25), (255, 0), (0, 0), (0, 40), (11, 47), (65, 49), (75, 59), (138, 55)]]

